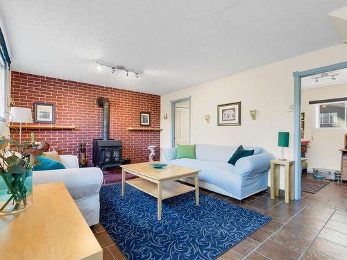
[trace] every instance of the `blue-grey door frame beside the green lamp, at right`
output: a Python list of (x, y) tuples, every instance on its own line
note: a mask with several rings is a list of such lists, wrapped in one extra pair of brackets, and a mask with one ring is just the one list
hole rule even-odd
[(319, 73), (346, 69), (347, 62), (331, 64), (307, 71), (295, 71), (294, 76), (294, 198), (301, 199), (301, 78)]

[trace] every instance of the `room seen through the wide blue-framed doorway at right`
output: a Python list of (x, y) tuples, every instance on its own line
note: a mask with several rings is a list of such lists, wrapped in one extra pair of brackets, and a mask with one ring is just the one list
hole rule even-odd
[(341, 181), (346, 129), (347, 69), (301, 78), (301, 191)]

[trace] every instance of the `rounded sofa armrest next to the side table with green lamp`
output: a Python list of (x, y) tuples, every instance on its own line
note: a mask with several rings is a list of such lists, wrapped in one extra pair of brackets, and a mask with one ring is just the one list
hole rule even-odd
[(271, 153), (260, 153), (258, 155), (243, 157), (237, 160), (234, 173), (238, 175), (262, 173), (269, 170), (271, 159), (274, 159)]

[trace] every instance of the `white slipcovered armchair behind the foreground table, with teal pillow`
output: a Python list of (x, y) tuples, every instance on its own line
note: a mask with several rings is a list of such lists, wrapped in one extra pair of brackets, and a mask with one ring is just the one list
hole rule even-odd
[(99, 223), (99, 191), (103, 172), (96, 167), (78, 168), (75, 155), (60, 155), (60, 159), (65, 169), (33, 171), (33, 184), (64, 182), (88, 225)]

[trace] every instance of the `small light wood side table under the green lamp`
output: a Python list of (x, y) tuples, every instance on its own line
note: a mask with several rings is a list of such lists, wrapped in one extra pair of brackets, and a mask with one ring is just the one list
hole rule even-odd
[(278, 196), (280, 191), (280, 166), (285, 166), (285, 202), (289, 203), (289, 197), (294, 200), (294, 161), (282, 161), (280, 159), (271, 160), (270, 164), (270, 179), (271, 179), (271, 198)]

